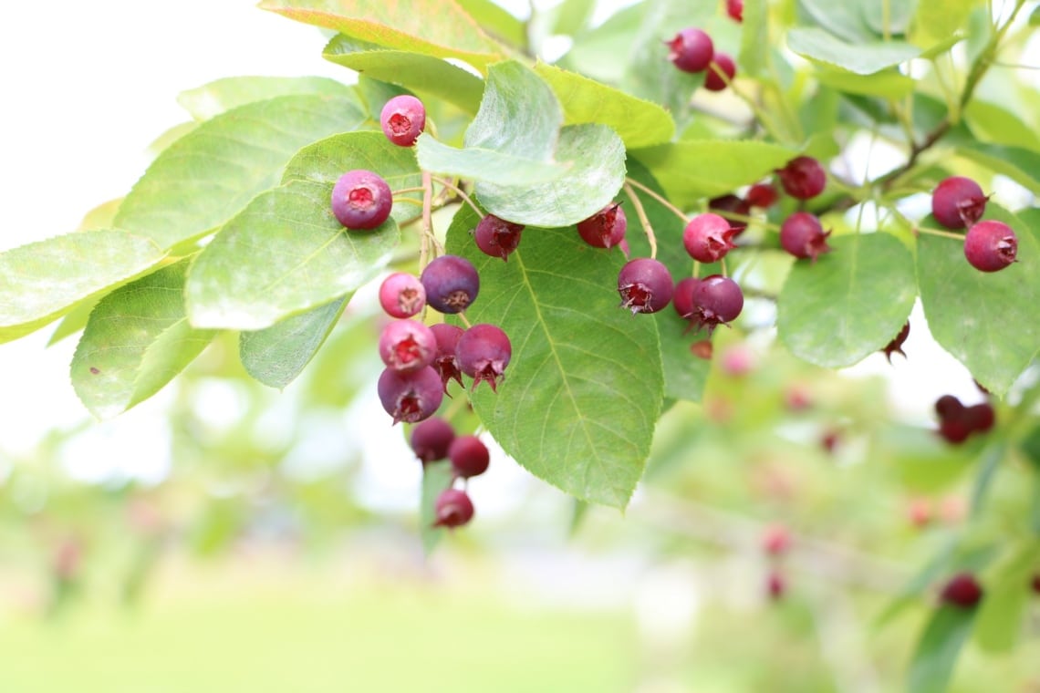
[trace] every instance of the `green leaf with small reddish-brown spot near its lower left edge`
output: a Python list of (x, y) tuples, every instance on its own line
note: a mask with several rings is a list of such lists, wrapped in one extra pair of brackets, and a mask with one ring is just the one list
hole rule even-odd
[(72, 384), (99, 419), (120, 415), (159, 392), (212, 341), (184, 312), (190, 259), (168, 265), (105, 296), (72, 359)]

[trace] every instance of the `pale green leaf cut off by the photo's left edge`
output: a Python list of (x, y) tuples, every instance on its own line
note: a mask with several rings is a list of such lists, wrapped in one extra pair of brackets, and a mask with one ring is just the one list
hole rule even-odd
[(165, 254), (125, 231), (79, 231), (0, 254), (0, 342), (57, 320), (148, 271)]

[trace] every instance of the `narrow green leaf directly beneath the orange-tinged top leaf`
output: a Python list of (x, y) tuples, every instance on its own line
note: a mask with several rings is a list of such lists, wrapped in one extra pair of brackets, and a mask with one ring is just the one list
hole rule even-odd
[(372, 79), (399, 84), (428, 94), (475, 113), (484, 82), (441, 58), (409, 51), (389, 50), (339, 34), (326, 46), (322, 56)]

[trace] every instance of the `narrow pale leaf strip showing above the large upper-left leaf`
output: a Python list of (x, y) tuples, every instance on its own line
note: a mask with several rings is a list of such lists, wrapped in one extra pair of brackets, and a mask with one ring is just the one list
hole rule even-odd
[(181, 91), (177, 103), (197, 121), (233, 108), (300, 94), (349, 99), (350, 87), (328, 77), (226, 77)]

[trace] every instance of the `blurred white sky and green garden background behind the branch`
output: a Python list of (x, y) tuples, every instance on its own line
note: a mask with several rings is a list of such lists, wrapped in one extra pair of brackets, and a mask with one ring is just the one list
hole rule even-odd
[[(252, 0), (7, 8), (0, 249), (125, 194), (188, 119), (181, 90), (348, 81), (323, 44)], [(0, 690), (900, 687), (935, 604), (927, 579), (906, 585), (962, 538), (984, 445), (934, 433), (938, 396), (986, 395), (919, 311), (908, 359), (840, 373), (725, 330), (703, 403), (661, 420), (625, 513), (576, 505), (492, 444), (474, 523), (427, 553), (421, 465), (372, 396), (364, 295), (284, 392), (244, 374), (232, 335), (105, 423), (69, 384), (75, 340), (0, 346)], [(1023, 516), (1022, 474), (1000, 471), (972, 531)], [(1014, 654), (967, 648), (953, 690), (1040, 690), (1038, 615)]]

